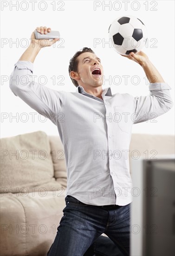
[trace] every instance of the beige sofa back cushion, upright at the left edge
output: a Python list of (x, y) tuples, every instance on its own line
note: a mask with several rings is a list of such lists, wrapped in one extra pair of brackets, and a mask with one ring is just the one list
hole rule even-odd
[[(1, 192), (21, 192), (22, 188), (55, 183), (51, 148), (48, 136), (37, 131), (13, 137), (1, 138)], [(56, 183), (57, 184), (57, 183)], [(25, 189), (26, 191), (26, 189)]]

